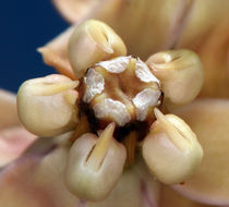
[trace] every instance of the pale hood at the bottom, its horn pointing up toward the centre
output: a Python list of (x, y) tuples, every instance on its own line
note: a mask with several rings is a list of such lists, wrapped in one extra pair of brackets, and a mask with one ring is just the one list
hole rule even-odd
[(65, 183), (70, 192), (82, 199), (105, 199), (122, 174), (126, 153), (112, 137), (114, 123), (111, 123), (99, 138), (84, 134), (70, 149)]

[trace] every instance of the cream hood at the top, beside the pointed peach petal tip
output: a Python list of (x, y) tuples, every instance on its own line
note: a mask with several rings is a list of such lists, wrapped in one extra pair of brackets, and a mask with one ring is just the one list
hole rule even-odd
[(122, 39), (99, 21), (82, 23), (70, 37), (69, 59), (77, 78), (95, 63), (125, 54), (126, 48)]

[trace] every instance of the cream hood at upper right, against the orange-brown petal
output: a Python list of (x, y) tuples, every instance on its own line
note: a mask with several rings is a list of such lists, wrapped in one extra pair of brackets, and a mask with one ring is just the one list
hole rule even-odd
[(182, 105), (192, 101), (203, 85), (201, 59), (191, 50), (167, 50), (146, 61), (154, 75), (160, 81), (165, 98)]

